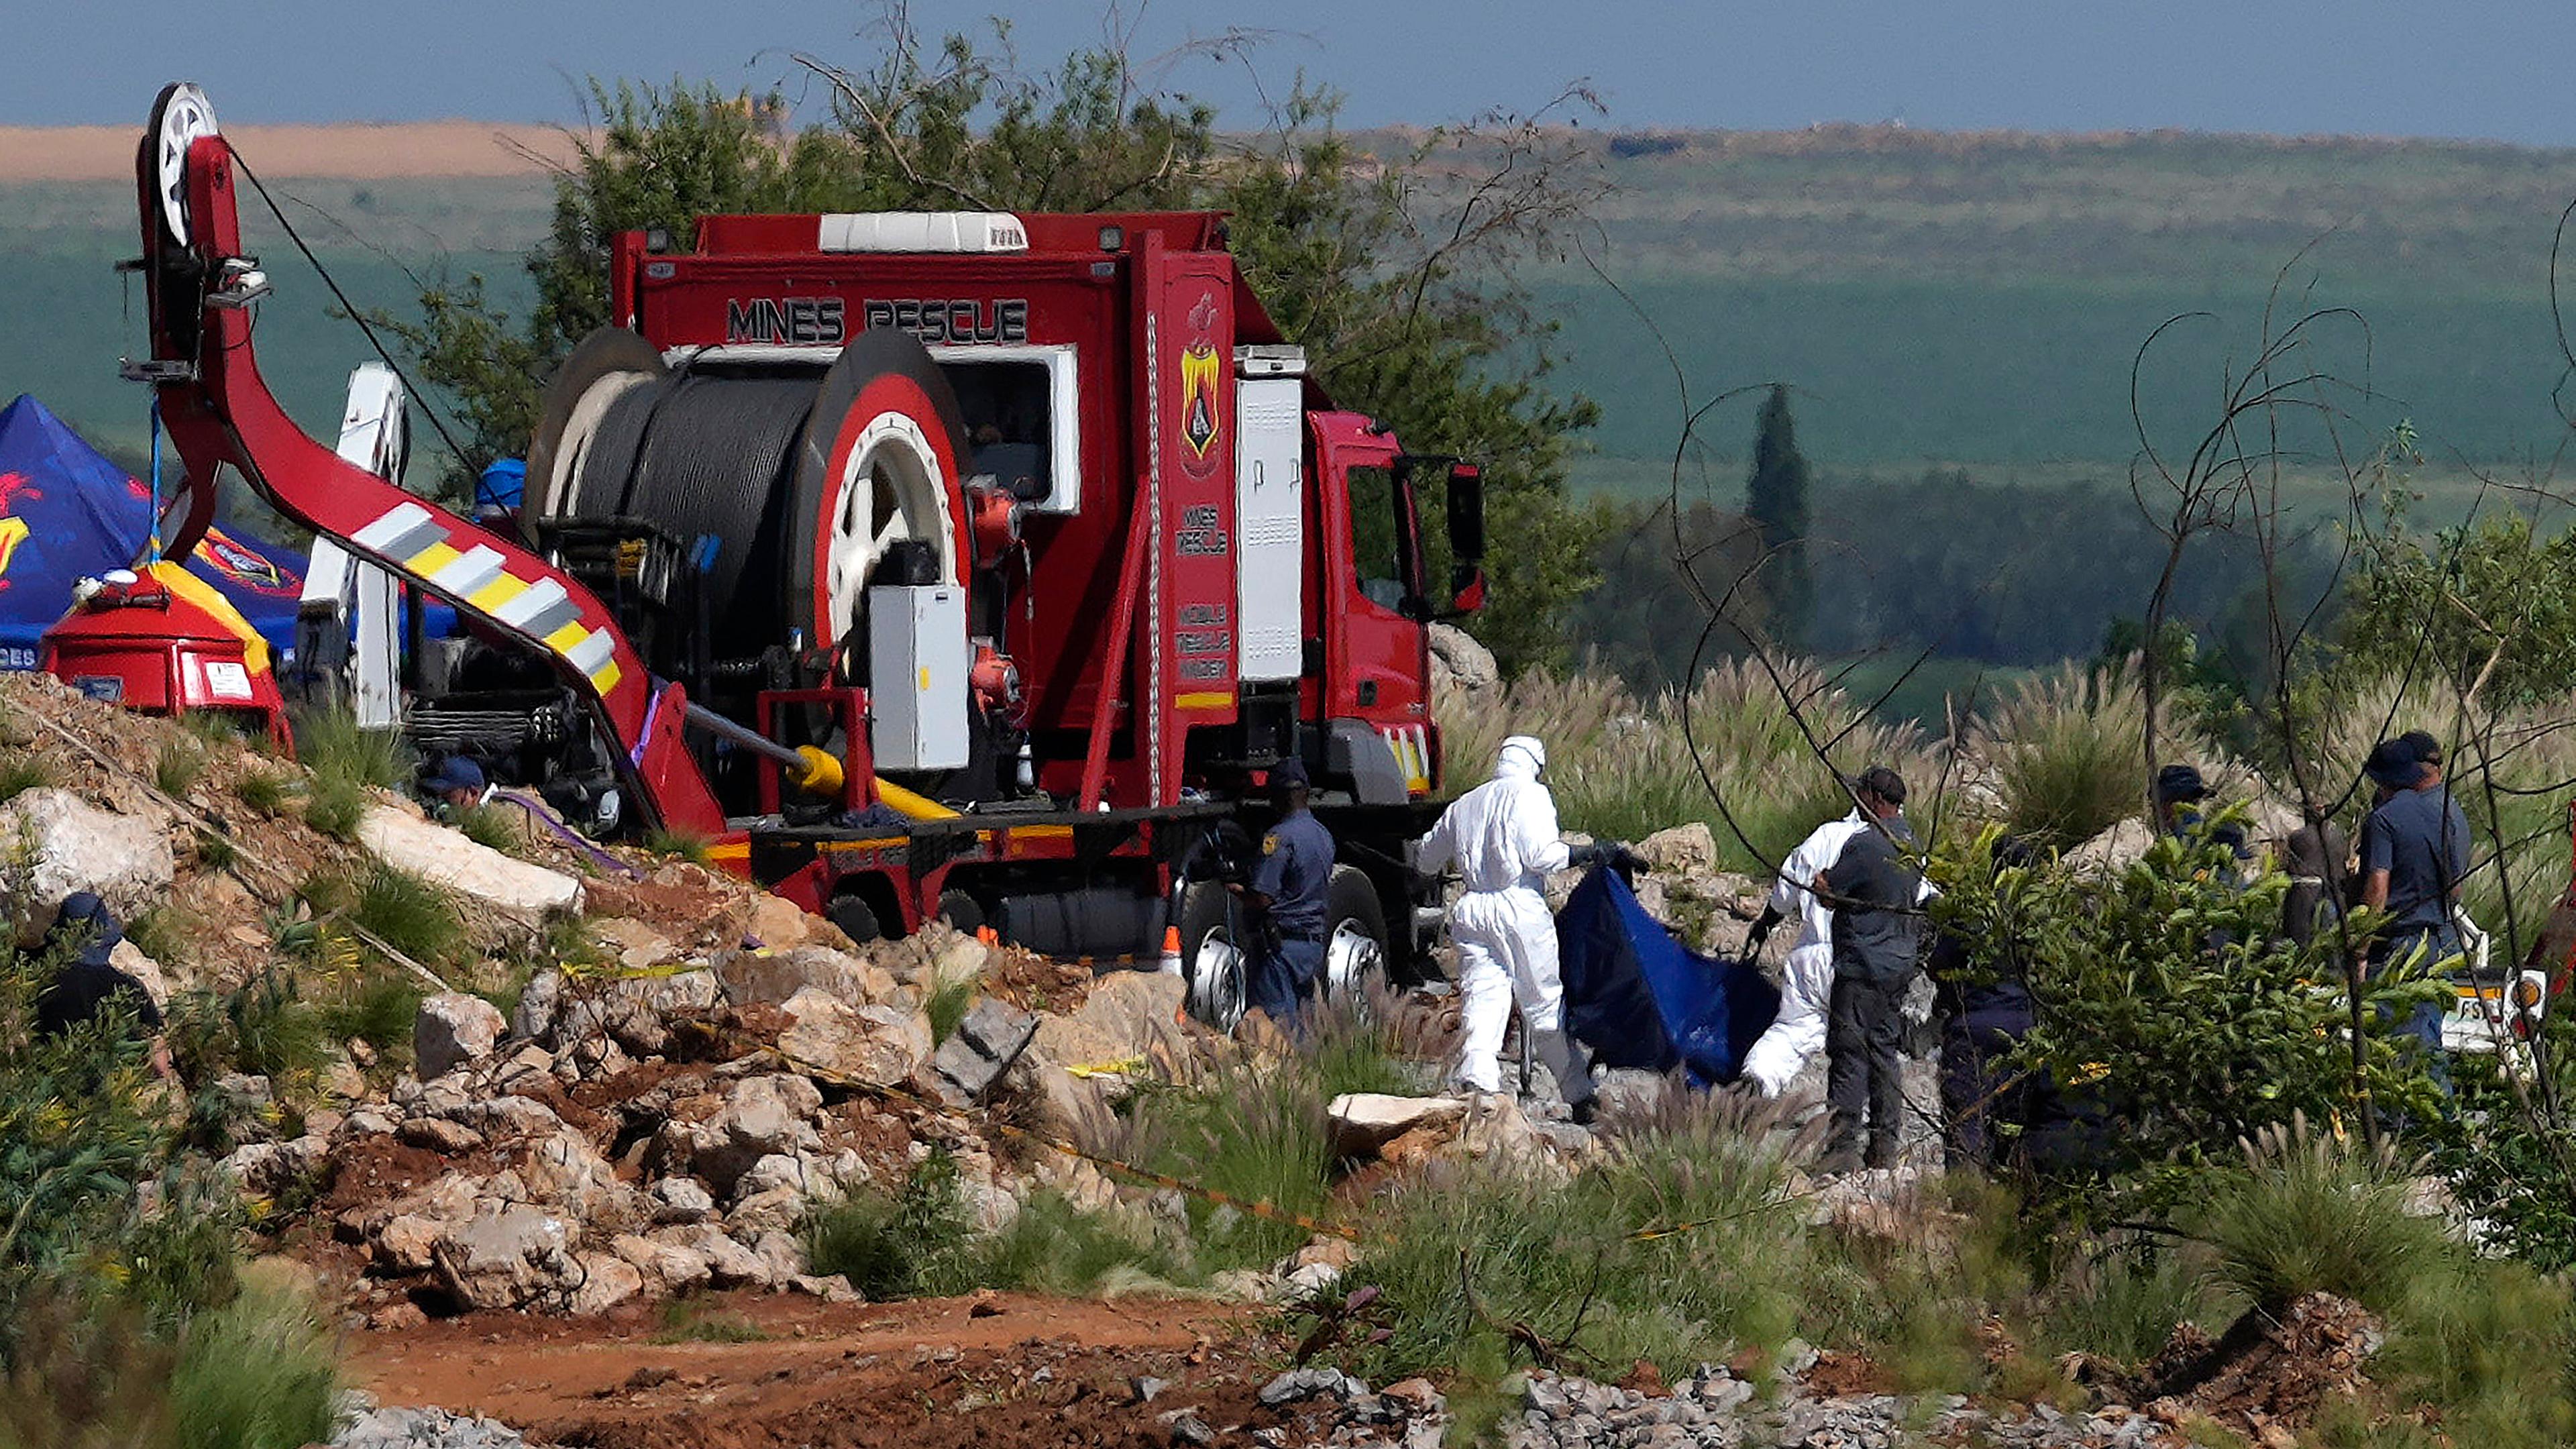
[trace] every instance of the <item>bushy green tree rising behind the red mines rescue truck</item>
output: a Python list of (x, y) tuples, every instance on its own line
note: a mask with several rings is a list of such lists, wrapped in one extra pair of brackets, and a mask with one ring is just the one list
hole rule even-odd
[(1492, 603), (1471, 629), (1512, 670), (1566, 660), (1564, 619), (1600, 536), (1566, 500), (1566, 449), (1597, 410), (1540, 387), (1553, 322), (1530, 317), (1512, 266), (1597, 193), (1579, 147), (1535, 121), (1486, 121), (1381, 155), (1340, 134), (1337, 98), (1306, 85), (1267, 142), (1231, 144), (1211, 108), (1154, 90), (1115, 49), (1028, 75), (999, 26), (999, 46), (930, 46), (899, 13), (884, 31), (871, 70), (796, 57), (832, 95), (829, 121), (806, 129), (775, 95), (592, 85), (600, 131), (528, 253), (531, 315), (500, 315), (469, 276), (386, 320), (471, 431), (456, 474), (526, 449), (546, 376), (608, 320), (616, 232), (662, 227), (685, 245), (706, 211), (1224, 209), (1239, 266), (1337, 402), (1414, 451), (1484, 467)]

